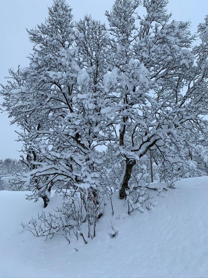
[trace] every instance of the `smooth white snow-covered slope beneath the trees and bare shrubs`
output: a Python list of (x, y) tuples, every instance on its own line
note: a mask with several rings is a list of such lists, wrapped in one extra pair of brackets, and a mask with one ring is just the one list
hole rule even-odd
[[(145, 213), (128, 216), (123, 201), (113, 199), (115, 214), (106, 208), (96, 238), (68, 245), (58, 236), (36, 238), (19, 225), (42, 211), (41, 201), (1, 191), (0, 277), (208, 277), (208, 177), (181, 180)], [(111, 219), (116, 238), (107, 234)]]

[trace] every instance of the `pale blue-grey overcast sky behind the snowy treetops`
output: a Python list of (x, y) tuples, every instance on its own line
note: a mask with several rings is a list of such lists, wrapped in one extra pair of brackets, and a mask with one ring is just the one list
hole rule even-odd
[[(110, 10), (113, 0), (68, 0), (73, 8), (75, 20), (84, 14), (91, 14), (95, 19), (106, 21), (104, 12)], [(28, 40), (25, 28), (32, 28), (47, 17), (47, 6), (52, 0), (3, 0), (0, 16), (0, 83), (5, 83), (4, 76), (10, 67), (14, 69), (28, 65), (27, 55), (32, 45)], [(204, 22), (208, 14), (207, 0), (169, 0), (169, 12), (176, 20), (192, 21), (192, 32), (196, 32), (199, 22)], [(2, 101), (0, 97), (0, 101)], [(17, 128), (10, 125), (5, 113), (0, 113), (0, 159), (19, 158), (21, 144), (16, 142)]]

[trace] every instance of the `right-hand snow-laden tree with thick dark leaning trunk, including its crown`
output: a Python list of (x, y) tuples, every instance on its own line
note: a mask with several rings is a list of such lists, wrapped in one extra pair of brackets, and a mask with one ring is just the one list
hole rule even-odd
[[(201, 61), (194, 65), (190, 22), (172, 20), (167, 3), (116, 0), (106, 11), (111, 53), (104, 85), (111, 97), (109, 121), (120, 127), (114, 147), (124, 160), (121, 199), (133, 166), (148, 150), (160, 162), (161, 179), (168, 180), (182, 166), (178, 150), (193, 148), (190, 134), (207, 131), (201, 117), (207, 113), (207, 69)], [(140, 5), (146, 8), (143, 19)]]

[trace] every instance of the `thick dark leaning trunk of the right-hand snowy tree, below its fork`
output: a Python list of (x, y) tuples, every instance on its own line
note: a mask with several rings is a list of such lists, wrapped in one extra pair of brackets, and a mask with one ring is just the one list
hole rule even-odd
[(121, 182), (121, 188), (119, 190), (119, 198), (124, 199), (126, 195), (126, 189), (128, 188), (128, 182), (131, 178), (132, 168), (136, 164), (136, 160), (132, 158), (126, 159), (126, 168), (124, 169), (123, 181)]

